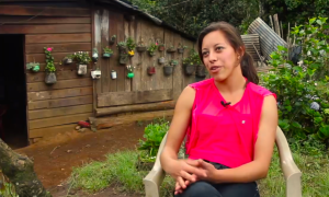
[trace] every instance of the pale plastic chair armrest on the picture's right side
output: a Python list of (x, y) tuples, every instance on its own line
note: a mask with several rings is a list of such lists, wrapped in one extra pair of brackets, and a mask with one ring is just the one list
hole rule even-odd
[(286, 196), (302, 197), (302, 172), (294, 162), (290, 146), (280, 127), (276, 129), (276, 147), (279, 149), (281, 169), (286, 179)]

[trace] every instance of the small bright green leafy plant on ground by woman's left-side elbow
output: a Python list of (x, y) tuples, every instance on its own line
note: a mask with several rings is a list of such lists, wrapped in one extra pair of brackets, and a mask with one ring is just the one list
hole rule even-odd
[(146, 154), (143, 157), (144, 160), (155, 161), (156, 155), (159, 150), (159, 146), (169, 130), (169, 123), (157, 123), (157, 124), (149, 124), (145, 128), (144, 140), (139, 140), (138, 150), (145, 150)]

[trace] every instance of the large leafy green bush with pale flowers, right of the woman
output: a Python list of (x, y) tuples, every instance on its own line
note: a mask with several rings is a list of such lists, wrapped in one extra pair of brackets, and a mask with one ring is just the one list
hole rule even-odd
[(298, 65), (283, 46), (271, 54), (273, 69), (262, 74), (263, 85), (277, 95), (279, 125), (293, 140), (329, 140), (329, 45), (324, 31), (326, 18), (310, 19), (293, 28), (298, 47)]

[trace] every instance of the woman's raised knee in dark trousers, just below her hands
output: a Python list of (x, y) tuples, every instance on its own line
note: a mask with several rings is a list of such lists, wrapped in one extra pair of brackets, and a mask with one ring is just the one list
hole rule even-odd
[(222, 197), (213, 185), (206, 182), (196, 182), (190, 185), (185, 190), (175, 197)]

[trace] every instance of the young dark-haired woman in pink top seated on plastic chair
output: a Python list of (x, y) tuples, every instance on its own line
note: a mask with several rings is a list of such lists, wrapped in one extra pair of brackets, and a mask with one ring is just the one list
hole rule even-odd
[[(256, 181), (266, 176), (275, 142), (276, 95), (257, 85), (253, 60), (230, 24), (207, 26), (197, 47), (212, 78), (181, 93), (163, 170), (177, 181), (177, 197), (258, 197)], [(178, 160), (185, 135), (189, 159)]]

